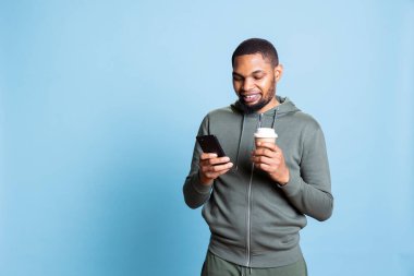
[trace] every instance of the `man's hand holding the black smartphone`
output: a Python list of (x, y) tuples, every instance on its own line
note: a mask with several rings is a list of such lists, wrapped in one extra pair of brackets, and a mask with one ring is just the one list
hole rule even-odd
[(199, 157), (199, 180), (202, 184), (210, 185), (212, 184), (212, 180), (224, 175), (232, 167), (233, 164), (227, 156), (217, 157), (217, 154), (202, 153)]

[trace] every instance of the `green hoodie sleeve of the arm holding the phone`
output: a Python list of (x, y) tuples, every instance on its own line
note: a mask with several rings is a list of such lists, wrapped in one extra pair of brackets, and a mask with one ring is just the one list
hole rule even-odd
[[(209, 122), (208, 117), (205, 117), (199, 127), (198, 135), (208, 134), (208, 122)], [(205, 185), (205, 184), (202, 184), (199, 181), (198, 161), (199, 161), (199, 155), (202, 153), (203, 151), (199, 147), (198, 143), (196, 142), (194, 145), (190, 173), (186, 177), (184, 187), (183, 187), (184, 201), (191, 208), (197, 208), (202, 206), (209, 199), (210, 192), (212, 189), (212, 184)]]

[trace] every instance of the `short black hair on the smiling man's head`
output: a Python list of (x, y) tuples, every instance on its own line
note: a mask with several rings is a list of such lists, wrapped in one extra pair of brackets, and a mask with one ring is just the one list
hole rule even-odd
[(241, 43), (231, 56), (231, 64), (234, 67), (235, 57), (253, 53), (260, 53), (273, 68), (279, 65), (278, 51), (271, 43), (263, 38), (249, 38)]

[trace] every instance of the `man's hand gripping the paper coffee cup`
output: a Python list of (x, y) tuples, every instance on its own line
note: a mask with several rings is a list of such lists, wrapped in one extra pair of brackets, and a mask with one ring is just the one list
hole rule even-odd
[(284, 163), (283, 152), (276, 144), (257, 142), (256, 149), (252, 153), (252, 161), (280, 185), (289, 182), (289, 168)]

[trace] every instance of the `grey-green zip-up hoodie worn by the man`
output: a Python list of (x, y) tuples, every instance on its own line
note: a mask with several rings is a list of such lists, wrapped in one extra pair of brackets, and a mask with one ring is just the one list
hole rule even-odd
[[(212, 185), (199, 182), (195, 145), (183, 192), (186, 204), (203, 206), (211, 238), (209, 250), (247, 267), (277, 267), (302, 257), (299, 231), (306, 217), (328, 219), (333, 197), (324, 133), (310, 116), (288, 98), (265, 113), (244, 113), (240, 104), (209, 112), (198, 135), (215, 134), (234, 164)], [(275, 128), (283, 151), (290, 181), (279, 187), (266, 172), (254, 168), (251, 156), (257, 128)]]

